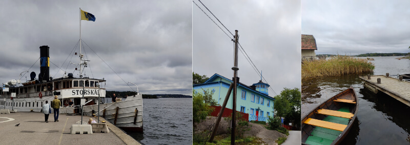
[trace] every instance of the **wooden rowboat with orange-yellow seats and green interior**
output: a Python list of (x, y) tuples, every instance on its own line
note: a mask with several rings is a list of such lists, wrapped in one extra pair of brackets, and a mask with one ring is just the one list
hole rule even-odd
[(326, 100), (303, 117), (302, 144), (339, 144), (351, 129), (357, 110), (353, 88)]

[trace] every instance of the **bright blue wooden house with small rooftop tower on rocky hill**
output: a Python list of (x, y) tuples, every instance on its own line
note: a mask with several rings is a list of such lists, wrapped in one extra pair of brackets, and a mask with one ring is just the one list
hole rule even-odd
[[(213, 92), (212, 98), (219, 105), (222, 105), (225, 96), (228, 93), (232, 80), (219, 74), (214, 74), (203, 84), (193, 85), (193, 89), (198, 93), (204, 91)], [(239, 82), (236, 90), (236, 110), (248, 113), (250, 120), (268, 121), (268, 116), (273, 116), (273, 97), (268, 93), (269, 85), (261, 80), (252, 86), (247, 86)], [(233, 93), (229, 98), (227, 108), (232, 109)]]

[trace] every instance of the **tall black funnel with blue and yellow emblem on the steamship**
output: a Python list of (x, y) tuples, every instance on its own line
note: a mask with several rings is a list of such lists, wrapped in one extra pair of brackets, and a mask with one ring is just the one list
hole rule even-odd
[(40, 82), (50, 81), (50, 47), (40, 46), (40, 73), (38, 74), (38, 80)]

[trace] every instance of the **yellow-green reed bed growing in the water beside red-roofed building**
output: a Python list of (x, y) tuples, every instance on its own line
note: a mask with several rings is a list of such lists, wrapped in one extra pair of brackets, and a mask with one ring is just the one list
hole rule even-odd
[(326, 60), (303, 61), (302, 79), (373, 72), (375, 65), (367, 59), (337, 55)]

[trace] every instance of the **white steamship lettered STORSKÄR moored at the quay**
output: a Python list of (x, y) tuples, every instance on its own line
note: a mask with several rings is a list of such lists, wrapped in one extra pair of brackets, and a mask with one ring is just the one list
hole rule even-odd
[[(106, 80), (83, 77), (83, 68), (87, 67), (90, 60), (84, 59), (81, 47), (80, 62), (76, 63), (79, 70), (75, 69), (79, 71), (79, 77), (74, 77), (72, 73), (60, 78), (50, 77), (49, 50), (48, 46), (40, 47), (40, 73), (37, 79), (35, 72), (31, 72), (31, 79), (26, 82), (20, 82), (20, 74), (19, 79), (3, 83), (0, 109), (9, 109), (10, 112), (40, 112), (46, 100), (50, 103), (54, 95), (57, 95), (61, 101), (60, 114), (75, 115), (83, 112), (84, 115), (92, 116), (99, 113), (122, 130), (142, 132), (142, 95), (138, 90), (136, 95), (128, 96), (125, 100), (104, 102), (106, 88), (103, 84)], [(74, 102), (73, 106), (68, 106), (69, 99)]]

